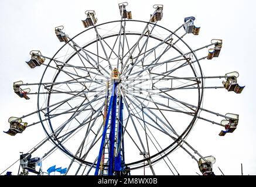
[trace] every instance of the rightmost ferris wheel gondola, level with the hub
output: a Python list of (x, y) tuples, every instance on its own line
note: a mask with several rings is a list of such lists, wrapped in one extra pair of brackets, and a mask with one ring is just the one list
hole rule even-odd
[(239, 77), (238, 72), (233, 71), (225, 75), (226, 81), (222, 81), (224, 88), (228, 92), (234, 91), (235, 93), (241, 93), (245, 86), (240, 86), (237, 84), (237, 78)]

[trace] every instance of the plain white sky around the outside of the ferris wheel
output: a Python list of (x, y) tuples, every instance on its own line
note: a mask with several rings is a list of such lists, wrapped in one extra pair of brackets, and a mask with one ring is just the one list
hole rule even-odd
[[(19, 98), (12, 89), (14, 81), (39, 82), (43, 67), (30, 69), (25, 63), (29, 51), (40, 49), (51, 57), (62, 46), (55, 34), (54, 27), (64, 25), (64, 32), (69, 36), (80, 33), (84, 27), (81, 19), (84, 11), (94, 9), (98, 23), (120, 18), (118, 3), (121, 1), (0, 1), (0, 56), (1, 56), (1, 113), (0, 132), (9, 129), (8, 118), (22, 116), (36, 110), (36, 96), (29, 101)], [(256, 174), (255, 152), (255, 97), (254, 93), (254, 25), (255, 1), (129, 1), (127, 7), (134, 19), (148, 20), (154, 4), (163, 4), (163, 20), (158, 22), (170, 30), (175, 30), (187, 16), (196, 17), (195, 25), (201, 26), (200, 35), (195, 40), (185, 41), (192, 49), (209, 44), (211, 39), (223, 39), (223, 49), (219, 58), (202, 62), (204, 75), (224, 75), (238, 71), (238, 84), (246, 85), (240, 95), (224, 89), (207, 90), (204, 94), (203, 107), (222, 114), (237, 113), (240, 122), (233, 134), (219, 137), (221, 127), (207, 122), (197, 122), (187, 141), (205, 156), (216, 157), (214, 172), (220, 175), (219, 169), (226, 175), (240, 175), (243, 163), (244, 175)], [(192, 37), (189, 35), (189, 38)], [(193, 43), (189, 43), (193, 41)], [(220, 84), (216, 86), (221, 85)], [(212, 120), (218, 120), (215, 116)], [(45, 136), (40, 125), (28, 129), (30, 133), (17, 134), (15, 137), (5, 133), (0, 135), (1, 164), (0, 172), (18, 160), (19, 151), (28, 151)], [(50, 147), (48, 147), (50, 149)], [(47, 150), (47, 148), (46, 148)], [(173, 164), (180, 174), (196, 175), (199, 172), (197, 163), (185, 151), (178, 150), (173, 156)], [(37, 155), (33, 155), (37, 156)], [(67, 157), (63, 157), (67, 158)], [(170, 157), (172, 159), (172, 156)], [(56, 158), (55, 158), (56, 159)], [(63, 164), (64, 163), (64, 164)], [(47, 161), (44, 170), (52, 164), (67, 167), (60, 159)], [(17, 172), (18, 165), (9, 171)], [(159, 173), (170, 174), (159, 168)], [(142, 174), (142, 172), (138, 173)], [(150, 174), (148, 172), (148, 174)]]

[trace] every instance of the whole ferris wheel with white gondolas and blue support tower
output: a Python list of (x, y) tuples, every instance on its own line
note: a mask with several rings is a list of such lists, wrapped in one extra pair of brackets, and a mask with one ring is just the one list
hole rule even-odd
[[(215, 158), (204, 157), (186, 137), (197, 120), (220, 126), (219, 136), (237, 127), (237, 114), (202, 108), (204, 89), (235, 93), (244, 89), (237, 83), (238, 72), (203, 74), (200, 63), (219, 57), (223, 41), (213, 39), (192, 49), (185, 36), (197, 37), (200, 32), (193, 16), (171, 31), (158, 25), (163, 5), (153, 5), (147, 21), (132, 19), (127, 6), (127, 2), (118, 4), (119, 20), (99, 25), (95, 12), (86, 11), (82, 20), (86, 29), (74, 37), (64, 33), (63, 26), (56, 27), (57, 39), (64, 44), (53, 57), (30, 51), (26, 63), (32, 70), (44, 67), (45, 71), (39, 82), (16, 81), (13, 90), (24, 99), (37, 95), (37, 110), (10, 117), (5, 133), (16, 136), (42, 124), (47, 137), (20, 155), (23, 169), (42, 174), (37, 165), (57, 148), (71, 160), (65, 175), (130, 175), (143, 167), (155, 175), (159, 161), (179, 175), (168, 155), (180, 148), (196, 161), (203, 175), (214, 175)], [(207, 86), (206, 79), (223, 81)], [(222, 120), (214, 122), (209, 115)], [(39, 120), (27, 122), (30, 116)], [(32, 158), (48, 141), (54, 146)], [(79, 166), (71, 173), (74, 162)]]

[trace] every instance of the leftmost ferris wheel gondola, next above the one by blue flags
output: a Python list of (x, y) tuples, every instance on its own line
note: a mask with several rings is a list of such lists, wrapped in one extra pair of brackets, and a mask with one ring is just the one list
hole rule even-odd
[(10, 123), (10, 129), (4, 131), (4, 133), (11, 136), (15, 136), (17, 133), (22, 133), (26, 129), (26, 126), (28, 126), (28, 123), (23, 123), (18, 117), (10, 117), (8, 122)]

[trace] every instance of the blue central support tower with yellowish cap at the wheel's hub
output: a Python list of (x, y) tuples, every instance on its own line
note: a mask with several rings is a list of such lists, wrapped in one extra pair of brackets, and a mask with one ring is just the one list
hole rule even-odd
[[(101, 140), (100, 145), (100, 151), (97, 158), (97, 165), (95, 168), (94, 175), (102, 175), (103, 172), (100, 172), (100, 168), (107, 169), (107, 175), (121, 175), (122, 171), (124, 171), (124, 138), (123, 138), (123, 116), (122, 116), (122, 109), (123, 109), (123, 103), (122, 103), (122, 96), (117, 95), (117, 88), (119, 84), (118, 79), (118, 71), (115, 68), (112, 71), (112, 79), (113, 79), (113, 86), (112, 86), (112, 92), (111, 92), (111, 98), (110, 102), (107, 108), (107, 116), (105, 116), (105, 124), (104, 124), (104, 130), (103, 130), (103, 136)], [(114, 78), (113, 78), (114, 77)], [(117, 99), (119, 99), (119, 105), (117, 105)], [(117, 110), (117, 106), (118, 110)], [(118, 119), (118, 116), (119, 119)], [(111, 119), (111, 120), (110, 120)], [(110, 124), (109, 124), (110, 121)], [(110, 127), (108, 126), (110, 125)], [(107, 131), (110, 131), (109, 137), (107, 137)], [(106, 142), (106, 140), (108, 140)], [(108, 152), (108, 162), (104, 163), (104, 149), (106, 144), (109, 147)], [(103, 166), (104, 165), (104, 166)]]

